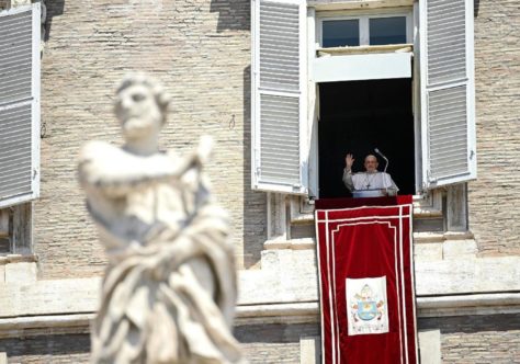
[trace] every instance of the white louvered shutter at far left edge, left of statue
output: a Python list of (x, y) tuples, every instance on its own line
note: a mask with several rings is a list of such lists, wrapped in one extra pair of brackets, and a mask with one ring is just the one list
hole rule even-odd
[(0, 12), (0, 207), (39, 194), (41, 5)]

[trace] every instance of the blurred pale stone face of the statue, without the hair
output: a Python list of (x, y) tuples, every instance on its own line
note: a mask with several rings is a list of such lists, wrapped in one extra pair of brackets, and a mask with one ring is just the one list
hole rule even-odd
[(117, 94), (115, 113), (127, 139), (138, 139), (158, 133), (162, 115), (150, 90), (133, 84)]

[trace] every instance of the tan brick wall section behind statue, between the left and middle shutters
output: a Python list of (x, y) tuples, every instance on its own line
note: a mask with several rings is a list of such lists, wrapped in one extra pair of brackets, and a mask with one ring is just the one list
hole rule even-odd
[(42, 197), (35, 208), (41, 278), (101, 273), (105, 258), (83, 206), (76, 164), (89, 139), (121, 143), (116, 83), (149, 71), (173, 102), (162, 148), (217, 145), (207, 167), (230, 213), (239, 264), (265, 240), (265, 196), (250, 190), (249, 1), (49, 0), (42, 60)]

